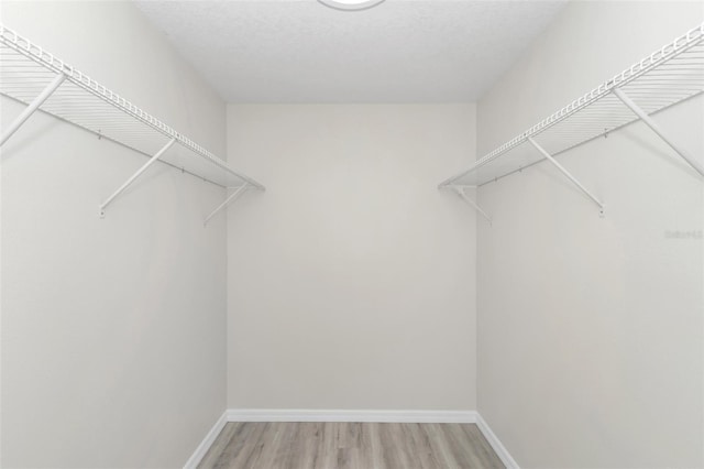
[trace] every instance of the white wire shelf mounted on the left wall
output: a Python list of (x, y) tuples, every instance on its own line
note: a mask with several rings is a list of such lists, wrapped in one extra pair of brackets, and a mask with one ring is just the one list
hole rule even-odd
[[(0, 24), (0, 94), (32, 105), (53, 83), (58, 87), (48, 91), (40, 110), (145, 155), (168, 145), (160, 161), (213, 184), (264, 189), (186, 135)], [(172, 141), (176, 144), (169, 145)]]

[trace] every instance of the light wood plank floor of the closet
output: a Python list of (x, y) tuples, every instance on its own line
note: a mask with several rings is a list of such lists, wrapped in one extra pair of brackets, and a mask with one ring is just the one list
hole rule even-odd
[(474, 424), (229, 423), (199, 468), (504, 468)]

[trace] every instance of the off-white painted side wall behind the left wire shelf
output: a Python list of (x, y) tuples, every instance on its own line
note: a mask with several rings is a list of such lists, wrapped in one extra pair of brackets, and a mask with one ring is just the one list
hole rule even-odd
[[(1, 13), (224, 154), (224, 105), (130, 2)], [(2, 467), (180, 467), (226, 407), (224, 190), (157, 164), (99, 219), (145, 161), (42, 114), (3, 148)]]

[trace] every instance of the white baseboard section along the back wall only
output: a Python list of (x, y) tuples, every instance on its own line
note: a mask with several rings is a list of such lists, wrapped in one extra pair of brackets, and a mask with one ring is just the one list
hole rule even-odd
[(473, 424), (474, 411), (323, 411), (230, 408), (228, 422), (378, 422)]

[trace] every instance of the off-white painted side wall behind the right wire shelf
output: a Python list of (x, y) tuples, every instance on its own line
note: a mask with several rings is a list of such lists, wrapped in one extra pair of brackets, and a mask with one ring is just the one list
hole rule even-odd
[[(477, 107), (477, 154), (704, 20), (702, 2), (572, 2)], [(704, 99), (656, 120), (704, 162)], [(524, 468), (703, 467), (702, 179), (644, 124), (484, 186), (479, 411)]]

